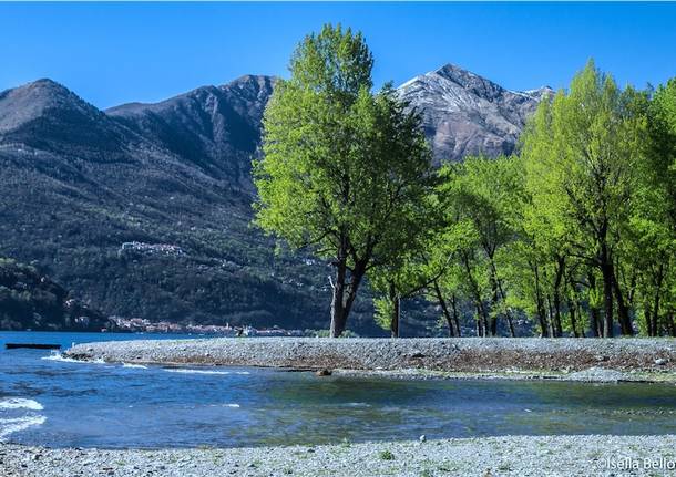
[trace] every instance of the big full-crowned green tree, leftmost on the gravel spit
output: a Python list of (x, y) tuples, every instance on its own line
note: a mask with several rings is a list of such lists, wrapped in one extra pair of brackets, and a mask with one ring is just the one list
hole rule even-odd
[(326, 25), (306, 37), (265, 111), (254, 165), (256, 222), (335, 268), (331, 336), (365, 274), (413, 240), (408, 227), (432, 176), (419, 115), (389, 85), (370, 92), (372, 63), (360, 33)]

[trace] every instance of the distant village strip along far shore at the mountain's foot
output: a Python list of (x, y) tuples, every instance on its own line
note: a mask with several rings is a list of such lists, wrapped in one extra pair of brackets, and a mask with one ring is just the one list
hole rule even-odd
[[(150, 321), (143, 318), (111, 317), (114, 331), (130, 333), (181, 333), (181, 334), (218, 334), (223, 336), (303, 336), (301, 330), (284, 330), (278, 326), (255, 329), (253, 326), (225, 326), (216, 324), (180, 324), (168, 321)], [(111, 330), (113, 331), (113, 330)]]

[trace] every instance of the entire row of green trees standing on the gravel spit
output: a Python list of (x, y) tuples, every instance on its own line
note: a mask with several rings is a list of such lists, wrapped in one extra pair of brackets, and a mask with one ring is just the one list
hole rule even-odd
[(477, 335), (676, 335), (676, 80), (622, 90), (590, 62), (518, 155), (434, 170), (420, 116), (372, 93), (371, 68), (359, 33), (307, 37), (255, 165), (257, 222), (335, 266), (332, 336), (367, 277), (395, 336), (412, 297), (450, 335), (467, 315)]

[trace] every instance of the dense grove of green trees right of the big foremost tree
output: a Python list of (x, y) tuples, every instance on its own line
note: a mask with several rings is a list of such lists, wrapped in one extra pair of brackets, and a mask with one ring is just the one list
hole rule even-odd
[(424, 297), (449, 323), (452, 298), (477, 334), (525, 318), (541, 335), (612, 335), (615, 317), (623, 334), (676, 334), (675, 113), (676, 80), (623, 91), (590, 61), (541, 103), (519, 156), (441, 168), (443, 227), (409, 276), (433, 277)]

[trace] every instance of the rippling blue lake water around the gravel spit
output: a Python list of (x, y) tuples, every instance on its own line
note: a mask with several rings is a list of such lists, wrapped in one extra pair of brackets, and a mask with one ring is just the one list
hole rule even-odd
[(0, 439), (114, 448), (676, 434), (673, 384), (318, 377), (79, 363), (50, 351), (4, 350), (6, 342), (166, 338), (191, 336), (0, 332)]

